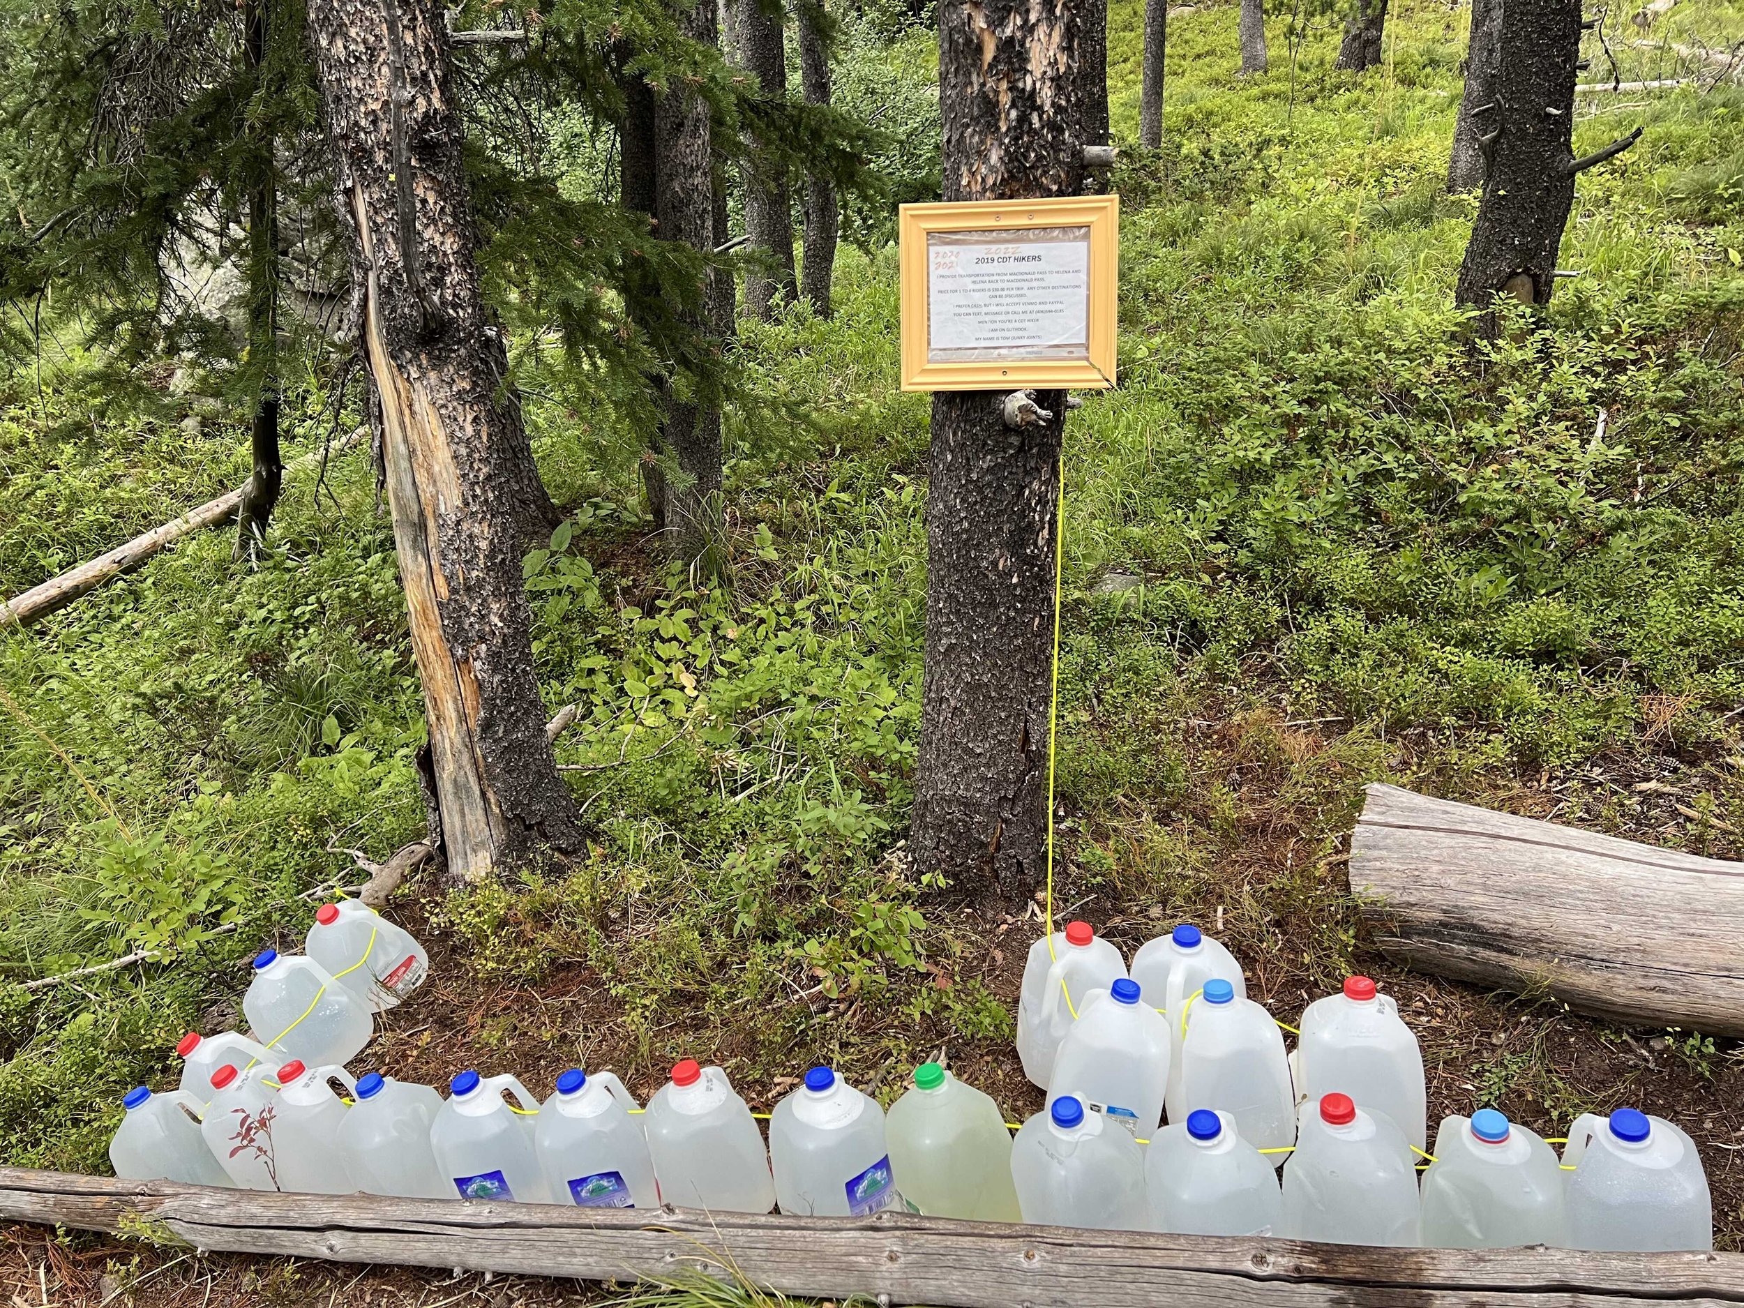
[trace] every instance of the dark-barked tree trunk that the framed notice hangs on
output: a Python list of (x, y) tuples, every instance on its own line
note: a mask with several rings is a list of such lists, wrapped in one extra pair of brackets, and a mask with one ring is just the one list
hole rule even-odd
[[(1081, 194), (1078, 35), (1069, 0), (942, 0), (947, 201)], [(1029, 895), (1046, 849), (1066, 394), (1038, 401), (1053, 417), (1008, 427), (996, 391), (933, 396), (914, 855), (984, 902)]]

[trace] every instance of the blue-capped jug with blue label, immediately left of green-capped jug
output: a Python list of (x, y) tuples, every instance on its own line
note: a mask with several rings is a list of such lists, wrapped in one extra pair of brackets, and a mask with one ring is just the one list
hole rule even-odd
[(795, 1217), (867, 1217), (902, 1209), (896, 1172), (884, 1148), (884, 1109), (828, 1067), (769, 1116), (774, 1200)]

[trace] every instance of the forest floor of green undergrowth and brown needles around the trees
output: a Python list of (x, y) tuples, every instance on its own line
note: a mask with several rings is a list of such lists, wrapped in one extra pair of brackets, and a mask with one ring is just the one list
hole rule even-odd
[[(1139, 10), (1111, 5), (1127, 143)], [(1669, 75), (1672, 38), (1744, 35), (1734, 3), (1674, 19), (1706, 26), (1632, 54), (1611, 33), (1624, 78)], [(1737, 1041), (1392, 968), (1345, 882), (1378, 780), (1744, 855), (1744, 94), (1582, 101), (1577, 152), (1646, 134), (1582, 178), (1563, 248), (1580, 276), (1547, 330), (1474, 356), (1449, 303), (1472, 199), (1441, 190), (1463, 23), (1404, 3), (1359, 78), (1329, 70), (1331, 23), (1292, 70), (1278, 19), (1273, 72), (1243, 80), (1233, 3), (1170, 21), (1165, 146), (1114, 178), (1121, 387), (1067, 424), (1055, 900), (1128, 954), (1198, 923), (1285, 1022), (1367, 971), (1423, 1043), (1432, 1120), (1672, 1118), (1721, 1247), (1744, 1249)], [(924, 119), (931, 49), (862, 42), (844, 84)], [(767, 1109), (814, 1062), (888, 1102), (944, 1052), (1013, 1120), (1039, 1107), (1012, 1045), (1039, 902), (998, 923), (944, 909), (900, 848), (928, 406), (895, 391), (893, 251), (846, 249), (837, 296), (830, 323), (746, 328), (769, 403), (731, 424), (720, 584), (659, 562), (609, 406), (528, 406), (574, 509), (528, 577), (548, 703), (582, 705), (558, 757), (582, 769), (589, 851), (508, 888), (406, 886), (389, 912), (431, 980), (354, 1071), (445, 1085), (476, 1066), (546, 1093), (579, 1064), (645, 1097), (698, 1057)], [(40, 396), (35, 373), (9, 384), (0, 593), (244, 474), (225, 424), (99, 438), (78, 370), (58, 358)], [(291, 453), (321, 439), (317, 401)], [(766, 417), (788, 408), (813, 420)], [(269, 548), (228, 555), (223, 534), (188, 541), (0, 637), (0, 973), (178, 959), (0, 982), (5, 1162), (106, 1170), (120, 1093), (173, 1080), (181, 1031), (234, 1022), (246, 959), (295, 947), (300, 895), (345, 874), (330, 841), (380, 858), (420, 832), (420, 701), (361, 457), (319, 497), (290, 485)], [(14, 1305), (603, 1294), (5, 1240)]]

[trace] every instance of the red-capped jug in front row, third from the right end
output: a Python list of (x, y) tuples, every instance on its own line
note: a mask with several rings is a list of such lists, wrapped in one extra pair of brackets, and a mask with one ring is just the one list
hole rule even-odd
[(1284, 1235), (1336, 1245), (1416, 1245), (1416, 1155), (1350, 1095), (1310, 1100), (1284, 1168)]

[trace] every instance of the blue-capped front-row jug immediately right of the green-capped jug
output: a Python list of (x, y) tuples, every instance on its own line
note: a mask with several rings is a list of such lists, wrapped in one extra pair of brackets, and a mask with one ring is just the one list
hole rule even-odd
[(1076, 1095), (1060, 1095), (1012, 1141), (1012, 1179), (1025, 1223), (1142, 1231), (1144, 1149)]

